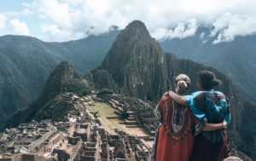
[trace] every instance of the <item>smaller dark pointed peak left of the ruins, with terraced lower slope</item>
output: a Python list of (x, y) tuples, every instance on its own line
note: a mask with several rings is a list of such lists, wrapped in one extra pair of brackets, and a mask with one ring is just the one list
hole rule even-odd
[(38, 100), (32, 102), (27, 108), (20, 109), (10, 115), (0, 129), (14, 127), (32, 119), (51, 118), (52, 120), (61, 120), (62, 116), (67, 116), (67, 112), (73, 109), (71, 98), (67, 95), (70, 92), (87, 95), (88, 87), (82, 78), (74, 72), (73, 66), (67, 61), (63, 61), (55, 66), (55, 69), (49, 75)]

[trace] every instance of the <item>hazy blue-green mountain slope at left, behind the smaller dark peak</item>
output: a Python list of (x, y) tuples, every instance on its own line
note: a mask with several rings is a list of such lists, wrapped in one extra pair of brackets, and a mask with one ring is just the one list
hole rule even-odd
[(37, 99), (50, 71), (68, 60), (85, 74), (98, 66), (118, 31), (66, 43), (24, 36), (0, 37), (0, 118)]

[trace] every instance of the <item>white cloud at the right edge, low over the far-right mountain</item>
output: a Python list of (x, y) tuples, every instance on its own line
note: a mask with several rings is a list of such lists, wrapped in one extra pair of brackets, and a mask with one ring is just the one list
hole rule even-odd
[(239, 14), (224, 14), (213, 23), (211, 36), (217, 35), (212, 43), (230, 42), (237, 36), (247, 36), (256, 33), (256, 19)]

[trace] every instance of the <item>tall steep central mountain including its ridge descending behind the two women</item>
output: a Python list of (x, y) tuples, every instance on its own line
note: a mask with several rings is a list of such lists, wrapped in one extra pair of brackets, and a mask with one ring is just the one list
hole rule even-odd
[[(248, 143), (245, 137), (250, 137), (252, 141), (255, 137), (251, 131), (251, 128), (254, 128), (253, 120), (246, 117), (247, 111), (255, 113), (256, 107), (247, 103), (248, 101), (223, 73), (192, 60), (180, 60), (172, 54), (165, 53), (154, 38), (150, 37), (141, 21), (131, 22), (120, 32), (102, 65), (92, 71), (90, 77), (97, 71), (106, 71), (109, 73), (108, 78), (113, 78), (114, 83), (118, 85), (121, 94), (156, 102), (163, 93), (172, 89), (173, 79), (178, 73), (189, 75), (192, 80), (190, 91), (197, 90), (196, 75), (201, 70), (215, 72), (217, 78), (224, 83), (220, 90), (230, 97), (233, 118), (229, 129), (231, 144), (233, 147), (236, 145), (236, 149), (241, 152), (256, 158), (253, 152), (255, 143), (245, 146)], [(250, 115), (255, 116), (252, 113)], [(247, 127), (248, 124), (244, 124), (245, 122), (251, 123), (252, 127)]]

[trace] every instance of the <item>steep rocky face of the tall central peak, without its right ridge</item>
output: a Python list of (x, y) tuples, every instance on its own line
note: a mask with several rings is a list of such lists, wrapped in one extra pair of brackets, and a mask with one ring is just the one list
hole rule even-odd
[(165, 57), (146, 26), (133, 21), (119, 34), (98, 69), (110, 73), (121, 93), (155, 101), (170, 88)]

